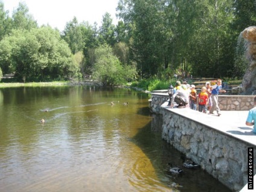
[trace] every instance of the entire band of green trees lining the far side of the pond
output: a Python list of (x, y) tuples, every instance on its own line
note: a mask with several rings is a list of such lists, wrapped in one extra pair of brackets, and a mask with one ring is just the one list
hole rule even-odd
[(59, 31), (38, 26), (26, 4), (9, 16), (0, 1), (0, 77), (83, 80), (104, 85), (173, 74), (242, 78), (240, 33), (256, 25), (255, 0), (120, 0), (120, 21), (100, 27), (74, 17)]

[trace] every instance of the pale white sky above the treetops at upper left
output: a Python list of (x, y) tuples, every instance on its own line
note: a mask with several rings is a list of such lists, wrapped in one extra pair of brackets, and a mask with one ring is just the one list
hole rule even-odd
[(74, 16), (78, 23), (88, 21), (93, 25), (97, 22), (101, 25), (103, 15), (110, 13), (113, 24), (117, 25), (115, 16), (118, 0), (0, 0), (4, 3), (4, 10), (12, 11), (16, 9), (19, 2), (25, 2), (29, 13), (37, 21), (39, 27), (49, 24), (63, 31), (67, 22), (72, 21)]

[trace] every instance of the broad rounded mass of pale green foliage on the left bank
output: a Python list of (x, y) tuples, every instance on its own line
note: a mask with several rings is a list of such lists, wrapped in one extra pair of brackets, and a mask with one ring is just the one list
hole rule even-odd
[(0, 50), (1, 68), (5, 73), (15, 72), (23, 81), (79, 76), (79, 66), (72, 62), (68, 44), (50, 27), (13, 31), (0, 47), (4, 48)]

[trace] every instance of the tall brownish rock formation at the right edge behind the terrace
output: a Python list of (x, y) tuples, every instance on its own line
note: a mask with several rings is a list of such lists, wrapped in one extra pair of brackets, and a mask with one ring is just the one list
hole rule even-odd
[(256, 94), (256, 26), (251, 26), (242, 31), (245, 39), (246, 59), (249, 61), (248, 69), (243, 76), (243, 92)]

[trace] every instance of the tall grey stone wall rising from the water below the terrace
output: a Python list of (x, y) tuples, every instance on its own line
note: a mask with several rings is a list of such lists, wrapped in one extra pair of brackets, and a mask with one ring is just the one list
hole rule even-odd
[(239, 191), (245, 186), (248, 179), (247, 150), (255, 146), (171, 110), (163, 109), (162, 115), (163, 139), (231, 190)]

